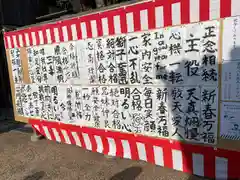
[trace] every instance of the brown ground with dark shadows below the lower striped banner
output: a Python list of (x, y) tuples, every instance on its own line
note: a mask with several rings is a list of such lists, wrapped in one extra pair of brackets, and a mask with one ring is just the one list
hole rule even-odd
[[(15, 128), (15, 127), (14, 127)], [(0, 133), (0, 180), (198, 180), (145, 162), (107, 159), (79, 147), (30, 141), (31, 132)]]

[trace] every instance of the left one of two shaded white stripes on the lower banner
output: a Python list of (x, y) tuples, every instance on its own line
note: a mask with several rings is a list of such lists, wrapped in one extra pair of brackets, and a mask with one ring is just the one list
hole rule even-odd
[(192, 154), (193, 174), (197, 176), (204, 176), (204, 159), (202, 154)]

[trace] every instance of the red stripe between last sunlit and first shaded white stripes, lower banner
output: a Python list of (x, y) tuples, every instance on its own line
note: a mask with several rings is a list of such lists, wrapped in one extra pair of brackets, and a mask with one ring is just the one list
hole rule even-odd
[(182, 158), (183, 158), (183, 172), (193, 173), (193, 160), (192, 160), (192, 152), (188, 150), (183, 150)]

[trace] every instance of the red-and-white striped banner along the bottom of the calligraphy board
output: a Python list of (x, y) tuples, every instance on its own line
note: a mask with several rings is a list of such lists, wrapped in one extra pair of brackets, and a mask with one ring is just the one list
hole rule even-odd
[(143, 160), (202, 177), (240, 177), (240, 152), (58, 122), (30, 119), (29, 123), (49, 140), (77, 145), (93, 152)]

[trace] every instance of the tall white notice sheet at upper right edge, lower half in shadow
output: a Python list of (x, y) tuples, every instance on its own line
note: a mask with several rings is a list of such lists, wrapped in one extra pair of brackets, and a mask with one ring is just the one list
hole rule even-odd
[(240, 100), (240, 17), (224, 19), (222, 100)]

